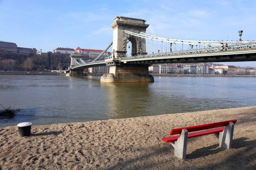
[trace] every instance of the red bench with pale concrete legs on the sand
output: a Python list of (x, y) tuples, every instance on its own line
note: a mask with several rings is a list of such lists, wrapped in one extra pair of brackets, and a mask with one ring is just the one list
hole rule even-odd
[[(229, 120), (224, 122), (216, 122), (205, 125), (197, 125), (190, 127), (182, 127), (172, 129), (169, 136), (163, 138), (164, 142), (171, 142), (174, 147), (175, 156), (186, 159), (186, 145), (188, 138), (214, 134), (219, 139), (219, 146), (230, 149), (232, 147), (234, 124), (237, 120)], [(202, 130), (202, 131), (200, 131)], [(195, 132), (199, 131), (199, 132)], [(193, 132), (193, 133), (189, 133)], [(177, 135), (180, 134), (180, 135)]]

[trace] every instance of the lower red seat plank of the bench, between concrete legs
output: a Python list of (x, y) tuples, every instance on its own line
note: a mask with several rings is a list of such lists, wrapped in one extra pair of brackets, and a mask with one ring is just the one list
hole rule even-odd
[[(219, 128), (210, 129), (210, 130), (188, 133), (188, 138), (194, 138), (194, 137), (198, 137), (198, 136), (209, 135), (209, 134), (212, 134), (212, 133), (219, 133), (219, 132), (222, 132), (223, 130), (224, 130), (223, 127), (219, 127)], [(169, 136), (169, 137), (163, 138), (162, 140), (164, 142), (175, 142), (175, 141), (178, 140), (178, 138), (179, 138), (179, 135)]]

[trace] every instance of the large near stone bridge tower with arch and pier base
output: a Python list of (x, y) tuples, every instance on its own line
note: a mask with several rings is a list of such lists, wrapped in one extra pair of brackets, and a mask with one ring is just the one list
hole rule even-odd
[(124, 33), (124, 30), (145, 32), (149, 25), (145, 24), (145, 20), (129, 17), (115, 17), (113, 21), (113, 60), (108, 62), (109, 74), (104, 74), (101, 82), (154, 82), (154, 77), (148, 73), (148, 65), (129, 65), (120, 62), (121, 57), (126, 57), (126, 44), (129, 41), (132, 56), (146, 54), (145, 39), (136, 39)]

